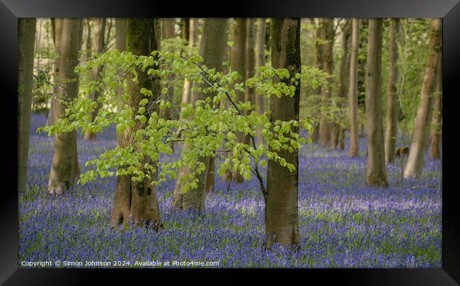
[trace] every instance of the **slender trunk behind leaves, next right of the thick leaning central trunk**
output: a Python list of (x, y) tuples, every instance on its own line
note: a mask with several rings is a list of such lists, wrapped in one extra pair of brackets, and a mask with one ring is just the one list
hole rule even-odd
[[(238, 71), (238, 74), (241, 75), (242, 79), (236, 81), (237, 83), (246, 81), (246, 28), (246, 18), (234, 18), (234, 27), (232, 30), (234, 46), (231, 47), (231, 69), (232, 71)], [(245, 101), (244, 93), (237, 91), (236, 94), (238, 96), (237, 101)], [(249, 142), (248, 136), (244, 136), (241, 132), (237, 132), (236, 137), (238, 142)], [(231, 152), (228, 152), (227, 156), (231, 156)], [(222, 179), (224, 181), (231, 179), (236, 183), (242, 183), (243, 175), (238, 171), (232, 171), (231, 173), (227, 171)]]

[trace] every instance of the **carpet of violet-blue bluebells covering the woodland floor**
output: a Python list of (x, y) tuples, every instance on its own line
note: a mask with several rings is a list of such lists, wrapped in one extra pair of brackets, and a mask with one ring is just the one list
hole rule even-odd
[[(419, 180), (400, 181), (388, 165), (389, 188), (365, 185), (366, 139), (361, 156), (308, 145), (299, 154), (300, 248), (265, 251), (263, 198), (255, 180), (231, 185), (216, 178), (206, 212), (171, 207), (174, 181), (159, 188), (165, 229), (109, 226), (115, 178), (76, 185), (67, 195), (46, 193), (52, 137), (32, 119), (28, 190), (19, 198), (21, 261), (218, 261), (219, 267), (440, 268), (442, 164), (426, 156)], [(79, 161), (115, 147), (115, 128), (96, 142), (78, 139)], [(178, 156), (177, 154), (175, 156)], [(407, 157), (407, 155), (406, 155)], [(399, 160), (399, 159), (398, 159)], [(112, 265), (113, 266), (113, 265)], [(190, 266), (189, 266), (190, 267)]]

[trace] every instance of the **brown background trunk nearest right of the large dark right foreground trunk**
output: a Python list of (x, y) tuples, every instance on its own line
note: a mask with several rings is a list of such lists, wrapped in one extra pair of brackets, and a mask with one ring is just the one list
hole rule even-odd
[[(333, 66), (333, 45), (334, 45), (334, 19), (333, 18), (323, 18), (323, 25), (325, 30), (325, 39), (324, 51), (323, 51), (323, 69), (328, 74), (332, 75), (334, 73)], [(329, 80), (330, 86), (328, 88), (322, 88), (323, 97), (328, 100), (332, 95), (332, 83), (333, 79)], [(319, 123), (319, 144), (322, 147), (331, 147), (330, 145), (330, 123), (324, 118), (321, 119)]]

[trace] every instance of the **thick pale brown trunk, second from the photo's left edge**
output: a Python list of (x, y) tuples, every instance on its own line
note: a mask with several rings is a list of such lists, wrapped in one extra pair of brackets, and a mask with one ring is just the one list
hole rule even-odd
[[(57, 59), (57, 100), (54, 101), (54, 122), (64, 118), (67, 104), (79, 93), (79, 75), (74, 69), (79, 63), (81, 19), (55, 19), (55, 43), (59, 54)], [(60, 35), (59, 35), (60, 34)], [(62, 194), (73, 185), (80, 174), (78, 154), (76, 152), (76, 131), (54, 136), (54, 154), (48, 182), (48, 192)]]

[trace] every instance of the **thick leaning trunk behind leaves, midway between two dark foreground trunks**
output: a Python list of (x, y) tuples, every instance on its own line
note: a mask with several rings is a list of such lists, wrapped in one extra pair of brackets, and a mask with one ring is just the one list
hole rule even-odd
[[(226, 30), (227, 30), (226, 18), (205, 18), (203, 21), (203, 35), (200, 42), (200, 56), (203, 58), (203, 64), (209, 69), (216, 69), (216, 71), (222, 71), (222, 62), (224, 58), (224, 46), (226, 45)], [(209, 87), (206, 83), (203, 83), (201, 88)], [(192, 94), (192, 103), (195, 104), (198, 100), (205, 100), (207, 97), (213, 97), (214, 94), (205, 94), (198, 91)], [(187, 147), (185, 147), (187, 148)], [(205, 211), (205, 191), (211, 188), (212, 182), (207, 182), (209, 176), (214, 176), (214, 166), (210, 165), (209, 157), (202, 157), (199, 162), (205, 164), (206, 169), (203, 171), (198, 178), (198, 187), (190, 189), (186, 193), (183, 193), (183, 186), (180, 183), (180, 178), (188, 176), (192, 172), (188, 166), (180, 168), (178, 171), (178, 178), (176, 180), (176, 187), (174, 188), (173, 195), (173, 206), (183, 209), (193, 208), (199, 212)], [(208, 172), (212, 169), (212, 175)]]

